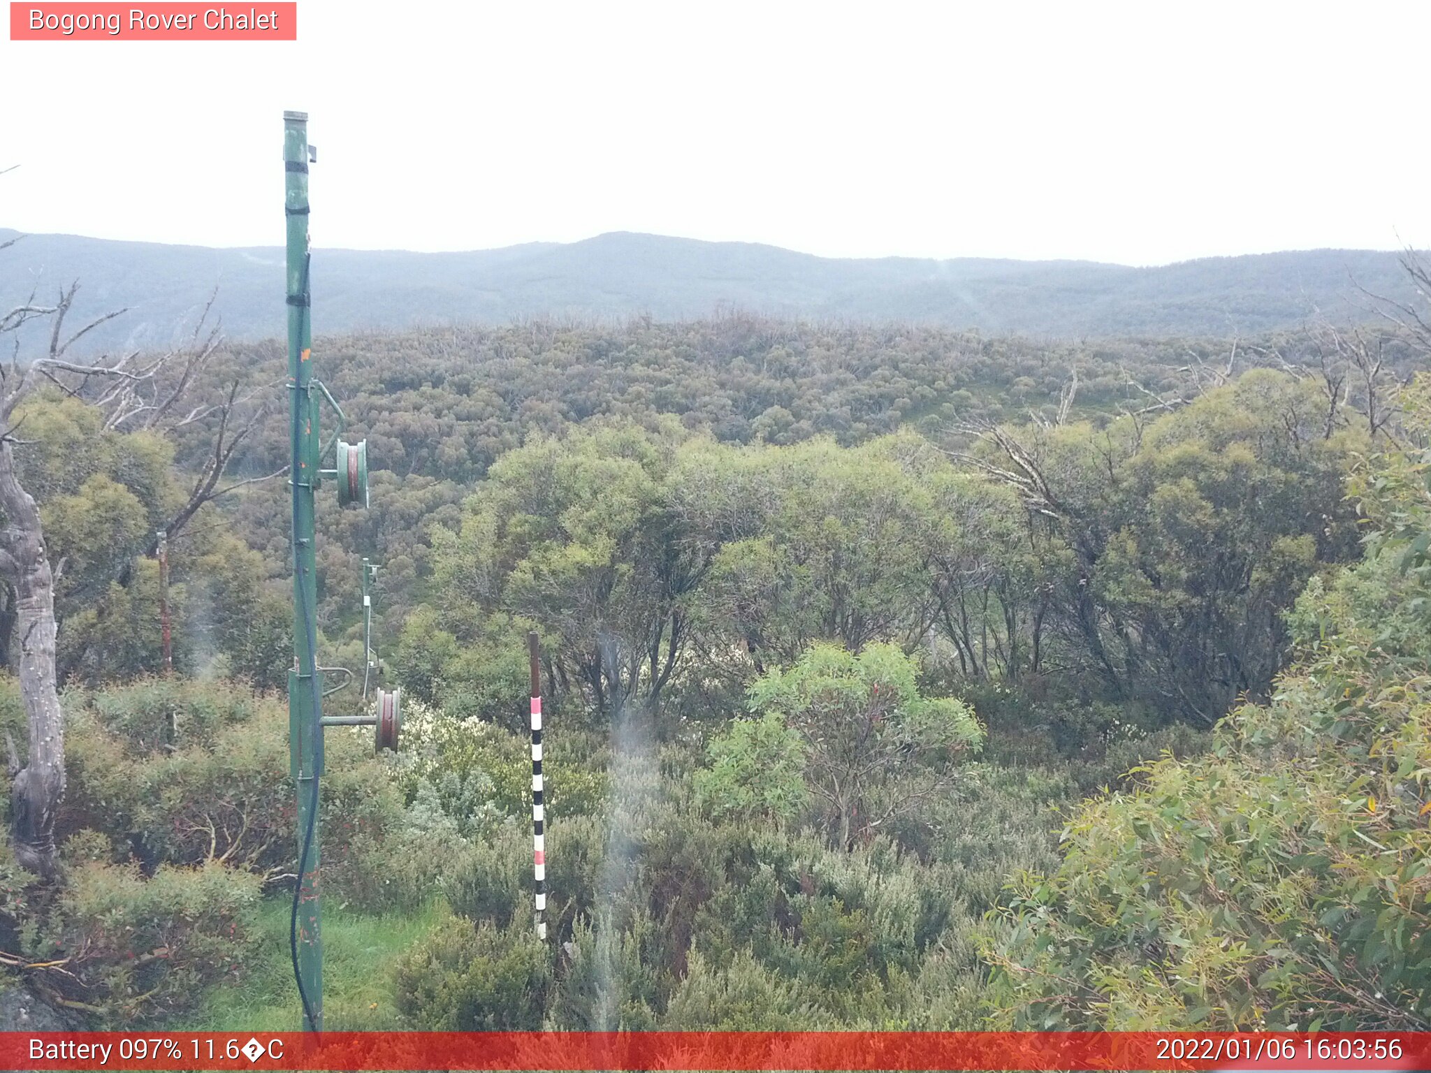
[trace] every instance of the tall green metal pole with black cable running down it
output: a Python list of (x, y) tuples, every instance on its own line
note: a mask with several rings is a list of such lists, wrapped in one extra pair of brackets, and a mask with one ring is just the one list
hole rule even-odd
[(313, 496), (319, 439), (308, 279), (308, 114), (283, 113), (283, 180), (288, 217), (288, 378), (290, 484), (293, 489), (293, 668), (288, 677), (289, 768), (298, 791), (299, 886), (295, 894), (293, 959), (303, 1029), (323, 1029), (323, 939), (318, 901), (318, 778), (323, 731), (315, 637), (318, 582), (313, 559)]

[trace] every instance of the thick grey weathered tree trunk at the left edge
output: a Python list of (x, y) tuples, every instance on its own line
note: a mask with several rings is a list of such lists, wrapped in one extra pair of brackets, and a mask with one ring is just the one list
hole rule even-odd
[[(10, 787), (14, 856), (44, 877), (56, 874), (54, 815), (64, 797), (64, 725), (54, 685), (54, 575), (34, 499), (14, 474), (9, 441), (0, 441), (0, 568), (16, 591), (20, 697), (30, 754)], [(11, 765), (14, 761), (11, 761)]]

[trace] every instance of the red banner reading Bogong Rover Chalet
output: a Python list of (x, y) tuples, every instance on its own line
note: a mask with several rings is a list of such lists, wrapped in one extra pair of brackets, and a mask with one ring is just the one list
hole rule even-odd
[(296, 41), (298, 4), (10, 3), (11, 41)]

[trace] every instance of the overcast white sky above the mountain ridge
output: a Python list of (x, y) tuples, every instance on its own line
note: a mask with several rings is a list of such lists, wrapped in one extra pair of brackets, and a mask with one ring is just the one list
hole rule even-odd
[(296, 43), (0, 40), (0, 226), (280, 245), (299, 109), (316, 246), (1424, 246), (1428, 43), (1428, 3), (299, 0)]

